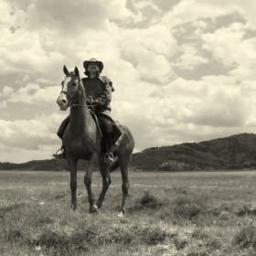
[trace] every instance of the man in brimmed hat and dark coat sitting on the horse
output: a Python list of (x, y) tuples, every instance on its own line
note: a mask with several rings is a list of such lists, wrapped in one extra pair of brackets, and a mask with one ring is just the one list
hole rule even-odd
[[(82, 79), (82, 83), (86, 92), (86, 103), (88, 107), (98, 116), (103, 128), (103, 137), (105, 139), (105, 163), (111, 164), (114, 162), (111, 152), (112, 144), (120, 136), (119, 128), (112, 121), (111, 105), (112, 101), (112, 81), (106, 76), (100, 76), (103, 69), (103, 63), (97, 59), (85, 60), (83, 62), (85, 69), (84, 74), (87, 78)], [(97, 121), (98, 123), (98, 121)], [(69, 124), (69, 116), (60, 124), (58, 136), (62, 139), (67, 125)], [(59, 155), (53, 155), (56, 158), (63, 159), (66, 157), (64, 145), (59, 149), (62, 151)], [(58, 153), (58, 152), (57, 152)]]

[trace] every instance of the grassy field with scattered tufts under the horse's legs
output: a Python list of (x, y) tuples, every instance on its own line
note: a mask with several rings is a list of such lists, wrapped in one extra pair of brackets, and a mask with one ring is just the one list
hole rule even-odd
[(68, 172), (1, 171), (0, 255), (256, 255), (256, 171), (130, 172), (123, 218), (120, 173), (96, 215), (83, 176), (73, 212)]

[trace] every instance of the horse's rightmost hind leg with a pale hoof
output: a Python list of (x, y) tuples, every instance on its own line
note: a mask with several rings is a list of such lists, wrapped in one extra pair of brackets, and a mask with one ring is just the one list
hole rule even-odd
[(122, 179), (123, 179), (123, 184), (122, 184), (123, 201), (122, 201), (120, 213), (118, 214), (118, 216), (120, 216), (120, 217), (122, 217), (123, 214), (125, 213), (126, 197), (128, 196), (128, 189), (130, 187), (129, 180), (128, 180), (128, 170), (129, 170), (130, 160), (131, 160), (131, 155), (130, 156), (126, 156), (126, 155), (118, 156), (119, 166), (121, 169), (121, 174), (122, 174)]

